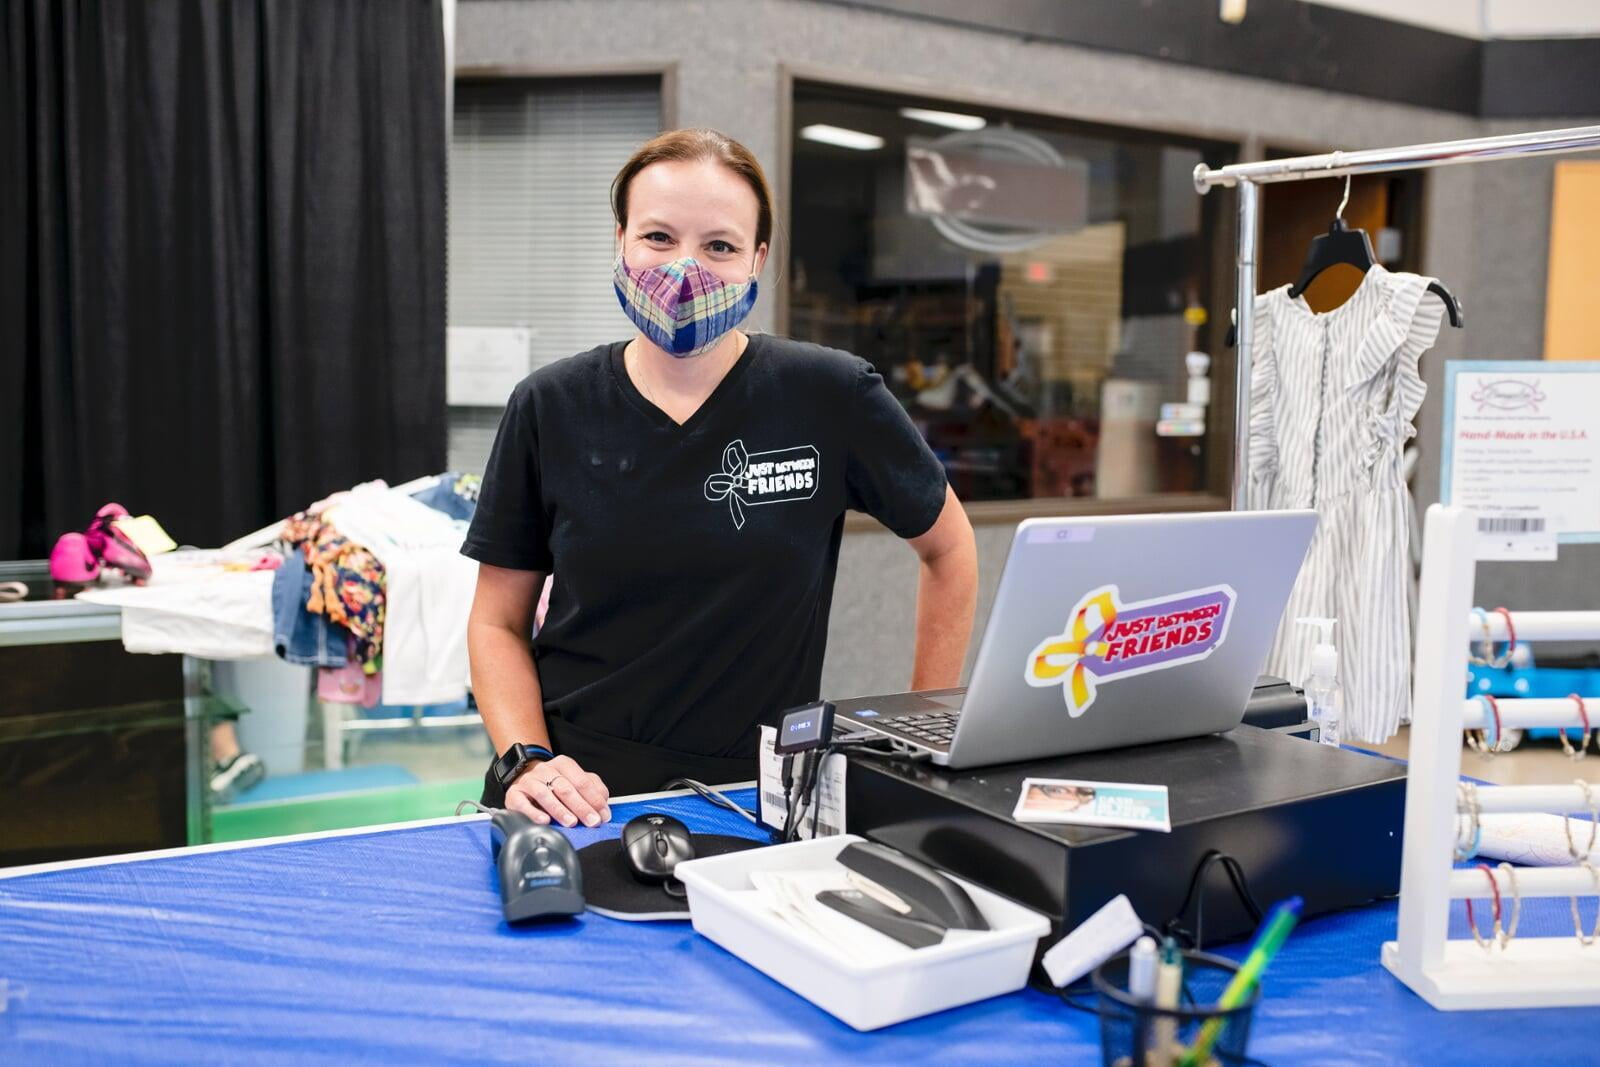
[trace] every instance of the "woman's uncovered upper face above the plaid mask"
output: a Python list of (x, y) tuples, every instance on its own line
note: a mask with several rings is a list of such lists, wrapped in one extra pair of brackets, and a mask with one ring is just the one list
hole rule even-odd
[(627, 190), (627, 226), (616, 227), (629, 267), (659, 267), (693, 256), (728, 285), (762, 272), (755, 245), (755, 190), (722, 163), (651, 163)]

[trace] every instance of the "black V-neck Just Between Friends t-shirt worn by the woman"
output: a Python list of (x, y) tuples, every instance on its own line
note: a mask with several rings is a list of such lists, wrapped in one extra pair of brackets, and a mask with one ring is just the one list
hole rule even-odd
[(624, 347), (517, 386), (462, 552), (555, 574), (533, 640), (547, 717), (747, 758), (758, 723), (818, 699), (845, 510), (923, 534), (944, 469), (846, 352), (752, 334), (678, 426)]

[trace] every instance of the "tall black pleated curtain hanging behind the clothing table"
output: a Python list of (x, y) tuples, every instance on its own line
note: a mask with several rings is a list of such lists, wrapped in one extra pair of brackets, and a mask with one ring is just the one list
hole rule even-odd
[(0, 6), (0, 560), (443, 469), (440, 0)]

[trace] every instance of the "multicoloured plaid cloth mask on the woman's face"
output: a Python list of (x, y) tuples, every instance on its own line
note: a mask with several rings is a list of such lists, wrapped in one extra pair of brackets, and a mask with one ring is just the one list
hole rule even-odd
[(678, 358), (699, 355), (755, 307), (755, 278), (728, 285), (693, 256), (635, 270), (616, 258), (611, 277), (622, 312)]

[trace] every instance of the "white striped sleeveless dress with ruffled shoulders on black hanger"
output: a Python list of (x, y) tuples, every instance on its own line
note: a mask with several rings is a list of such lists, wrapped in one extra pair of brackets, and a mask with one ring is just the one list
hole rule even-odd
[(1301, 685), (1317, 638), (1296, 619), (1336, 617), (1341, 726), (1352, 741), (1384, 741), (1410, 718), (1411, 491), (1400, 451), (1427, 392), (1418, 362), (1443, 317), (1438, 299), (1424, 299), (1429, 282), (1373, 267), (1322, 315), (1288, 286), (1256, 301), (1246, 499), (1320, 515), (1267, 673)]

